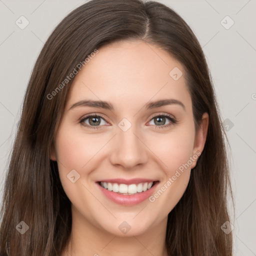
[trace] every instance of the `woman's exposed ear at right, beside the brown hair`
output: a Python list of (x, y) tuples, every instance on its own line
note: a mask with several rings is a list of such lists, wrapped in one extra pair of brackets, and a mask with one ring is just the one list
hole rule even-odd
[[(206, 136), (207, 136), (207, 130), (208, 130), (208, 125), (209, 125), (209, 115), (208, 113), (203, 113), (200, 125), (196, 131), (195, 138), (194, 138), (194, 147), (193, 147), (193, 155), (200, 155), (203, 148), (204, 144), (206, 141)], [(200, 154), (199, 154), (200, 152)], [(198, 159), (198, 157), (197, 157)], [(197, 160), (194, 160), (191, 164), (191, 169), (195, 167)]]

